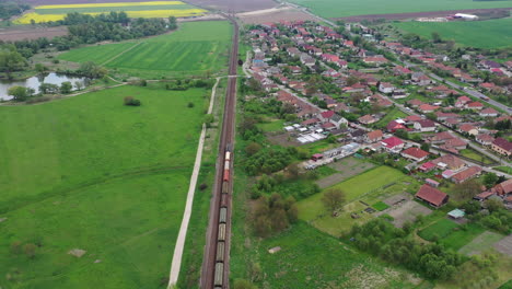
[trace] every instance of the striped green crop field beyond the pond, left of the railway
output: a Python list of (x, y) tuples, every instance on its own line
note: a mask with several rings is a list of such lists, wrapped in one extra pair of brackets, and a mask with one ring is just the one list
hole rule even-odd
[(132, 77), (217, 73), (225, 69), (231, 26), (225, 21), (187, 22), (176, 32), (140, 41), (86, 46), (59, 59), (93, 61)]

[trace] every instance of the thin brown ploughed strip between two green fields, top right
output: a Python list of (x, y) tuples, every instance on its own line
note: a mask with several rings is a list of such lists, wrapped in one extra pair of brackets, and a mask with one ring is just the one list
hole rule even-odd
[(435, 16), (446, 16), (454, 13), (470, 13), (470, 14), (488, 14), (498, 11), (509, 11), (511, 8), (496, 8), (496, 9), (463, 9), (463, 10), (451, 10), (451, 11), (430, 11), (430, 12), (414, 12), (414, 13), (396, 13), (396, 14), (368, 14), (368, 15), (357, 15), (348, 18), (337, 18), (334, 20), (342, 20), (348, 22), (359, 22), (363, 20), (376, 20), (376, 19), (386, 19), (386, 20), (403, 20), (403, 19), (414, 19), (414, 18), (435, 18)]

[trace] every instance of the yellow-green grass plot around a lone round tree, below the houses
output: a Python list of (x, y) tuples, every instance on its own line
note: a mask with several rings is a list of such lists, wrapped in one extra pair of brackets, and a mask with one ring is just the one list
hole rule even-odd
[[(362, 224), (374, 218), (372, 213), (363, 211), (365, 208), (396, 194), (412, 192), (417, 186), (414, 178), (402, 172), (388, 166), (379, 166), (331, 186), (342, 189), (346, 194), (346, 203), (338, 217), (331, 217), (326, 211), (322, 203), (324, 190), (298, 203), (299, 219), (310, 222), (321, 231), (339, 236), (353, 224)], [(351, 218), (352, 213), (357, 213), (358, 218)]]

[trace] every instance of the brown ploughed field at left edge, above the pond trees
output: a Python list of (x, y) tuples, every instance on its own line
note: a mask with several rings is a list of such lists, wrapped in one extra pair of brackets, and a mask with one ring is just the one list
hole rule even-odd
[(68, 34), (68, 28), (59, 27), (10, 27), (0, 28), (0, 39), (5, 42), (15, 42), (23, 39), (37, 39), (39, 37), (53, 38)]

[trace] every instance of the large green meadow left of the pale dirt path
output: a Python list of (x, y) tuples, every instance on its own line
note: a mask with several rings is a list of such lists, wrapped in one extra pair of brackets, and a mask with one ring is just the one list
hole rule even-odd
[[(142, 105), (123, 105), (127, 95)], [(0, 107), (2, 287), (161, 286), (206, 95), (126, 85)]]

